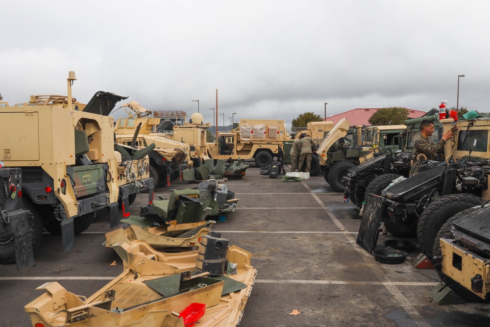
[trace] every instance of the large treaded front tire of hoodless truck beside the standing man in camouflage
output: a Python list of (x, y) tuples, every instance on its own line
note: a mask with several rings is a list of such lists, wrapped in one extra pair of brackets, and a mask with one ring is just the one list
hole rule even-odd
[(430, 203), (418, 218), (417, 238), (422, 253), (432, 260), (434, 242), (441, 226), (455, 213), (482, 205), (483, 199), (472, 194), (450, 194)]

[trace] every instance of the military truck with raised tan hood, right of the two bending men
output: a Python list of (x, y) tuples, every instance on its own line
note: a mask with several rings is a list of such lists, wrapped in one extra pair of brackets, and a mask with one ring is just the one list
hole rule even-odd
[(343, 177), (347, 176), (349, 169), (371, 158), (374, 148), (398, 148), (398, 134), (405, 127), (369, 126), (361, 131), (361, 126), (357, 126), (357, 134), (362, 135), (362, 143), (354, 145), (353, 139), (346, 137), (349, 125), (345, 118), (340, 120), (317, 151), (323, 178), (336, 192), (344, 192)]

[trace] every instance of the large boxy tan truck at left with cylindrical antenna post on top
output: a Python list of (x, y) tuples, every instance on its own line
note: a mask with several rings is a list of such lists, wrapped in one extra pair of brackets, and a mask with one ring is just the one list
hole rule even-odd
[(22, 206), (32, 214), (31, 221), (10, 226), (14, 246), (10, 238), (0, 244), (3, 259), (32, 252), (31, 246), (19, 249), (25, 242), (15, 242), (21, 227), (30, 230), (34, 247), (43, 226), (59, 232), (66, 252), (99, 209), (110, 209), (111, 227), (119, 222), (114, 123), (107, 114), (125, 98), (99, 91), (80, 104), (72, 98), (74, 80), (70, 72), (67, 97), (34, 96), (27, 105), (0, 107), (0, 158), (5, 167), (22, 168)]

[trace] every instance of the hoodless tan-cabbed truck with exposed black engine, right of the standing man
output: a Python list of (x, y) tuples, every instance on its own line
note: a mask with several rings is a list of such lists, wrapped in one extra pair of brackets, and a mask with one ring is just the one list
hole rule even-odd
[[(436, 234), (449, 217), (490, 199), (490, 118), (460, 120), (452, 127), (451, 123), (452, 119), (441, 120), (444, 131), (454, 130), (452, 142), (444, 147), (445, 162), (429, 162), (428, 167), (433, 167), (381, 192), (383, 205), (378, 214), (388, 232), (397, 237), (417, 235), (429, 258)], [(367, 201), (368, 205), (372, 203)]]

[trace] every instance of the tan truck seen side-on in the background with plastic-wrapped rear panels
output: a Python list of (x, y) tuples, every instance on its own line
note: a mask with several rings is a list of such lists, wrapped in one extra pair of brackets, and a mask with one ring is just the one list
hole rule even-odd
[(211, 159), (255, 159), (257, 167), (267, 167), (273, 157), (282, 156), (288, 138), (284, 120), (241, 119), (230, 132), (218, 133), (218, 143), (206, 143)]

